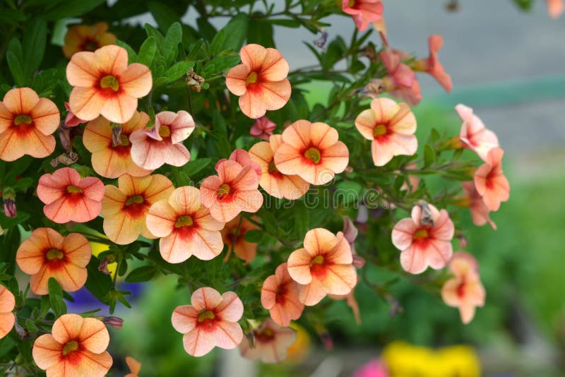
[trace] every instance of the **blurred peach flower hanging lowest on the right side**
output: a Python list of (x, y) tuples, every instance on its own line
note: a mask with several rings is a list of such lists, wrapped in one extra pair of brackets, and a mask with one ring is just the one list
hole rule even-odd
[(453, 254), (449, 269), (454, 276), (441, 288), (441, 298), (446, 305), (459, 308), (463, 323), (470, 323), (477, 306), (484, 306), (486, 296), (477, 261), (470, 254), (460, 251)]

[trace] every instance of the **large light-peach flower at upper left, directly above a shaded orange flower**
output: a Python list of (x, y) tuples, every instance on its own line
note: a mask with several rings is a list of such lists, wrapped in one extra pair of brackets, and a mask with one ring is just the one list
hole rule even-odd
[(131, 119), (138, 98), (148, 95), (153, 85), (149, 68), (139, 63), (128, 66), (126, 49), (114, 44), (74, 54), (66, 78), (74, 86), (69, 97), (73, 114), (85, 121), (102, 115), (119, 124)]

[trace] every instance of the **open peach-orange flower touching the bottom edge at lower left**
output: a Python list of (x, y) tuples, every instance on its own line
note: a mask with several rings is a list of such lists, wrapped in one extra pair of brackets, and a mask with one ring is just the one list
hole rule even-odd
[(51, 334), (33, 343), (33, 360), (47, 377), (102, 377), (113, 362), (106, 351), (109, 341), (102, 321), (63, 314), (53, 323)]

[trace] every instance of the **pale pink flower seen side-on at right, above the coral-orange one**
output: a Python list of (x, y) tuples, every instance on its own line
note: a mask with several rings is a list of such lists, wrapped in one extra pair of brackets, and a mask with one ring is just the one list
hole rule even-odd
[(482, 160), (487, 160), (489, 150), (499, 146), (499, 139), (494, 132), (488, 130), (478, 116), (473, 114), (470, 107), (458, 104), (455, 107), (459, 117), (463, 121), (459, 140), (465, 148), (477, 153)]

